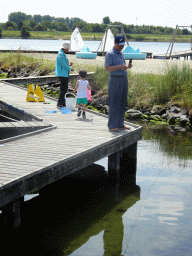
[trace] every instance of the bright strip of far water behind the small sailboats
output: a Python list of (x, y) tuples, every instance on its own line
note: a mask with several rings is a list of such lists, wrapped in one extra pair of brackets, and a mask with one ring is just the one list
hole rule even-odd
[[(69, 42), (68, 40), (66, 40)], [(28, 50), (28, 51), (58, 51), (63, 40), (37, 40), (37, 39), (0, 39), (0, 50)], [(84, 41), (91, 51), (97, 51), (100, 41)], [(134, 50), (165, 54), (170, 43), (158, 42), (130, 42)], [(173, 52), (191, 50), (190, 43), (174, 43)]]

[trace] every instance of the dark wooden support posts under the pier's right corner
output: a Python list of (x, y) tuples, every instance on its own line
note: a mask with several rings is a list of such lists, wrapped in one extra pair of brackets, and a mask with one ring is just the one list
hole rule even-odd
[(129, 189), (136, 185), (137, 143), (108, 157), (109, 182)]

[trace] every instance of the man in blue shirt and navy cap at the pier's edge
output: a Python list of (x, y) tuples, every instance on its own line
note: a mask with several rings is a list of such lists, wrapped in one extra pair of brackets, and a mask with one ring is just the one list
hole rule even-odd
[(124, 55), (121, 52), (124, 45), (125, 37), (116, 36), (113, 49), (107, 52), (105, 57), (105, 71), (108, 71), (110, 75), (108, 81), (108, 128), (110, 131), (130, 129), (124, 125), (124, 115), (128, 93), (127, 69), (130, 69), (132, 64), (126, 66)]

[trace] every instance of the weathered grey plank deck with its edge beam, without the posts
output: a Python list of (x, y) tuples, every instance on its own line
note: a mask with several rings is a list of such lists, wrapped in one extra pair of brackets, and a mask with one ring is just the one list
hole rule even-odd
[[(39, 117), (56, 129), (0, 144), (0, 207), (50, 184), (142, 138), (142, 128), (109, 132), (104, 115), (46, 113), (56, 101), (26, 102), (26, 90), (0, 82), (0, 100)], [(35, 121), (34, 121), (35, 122)], [(0, 127), (1, 130), (1, 127)]]

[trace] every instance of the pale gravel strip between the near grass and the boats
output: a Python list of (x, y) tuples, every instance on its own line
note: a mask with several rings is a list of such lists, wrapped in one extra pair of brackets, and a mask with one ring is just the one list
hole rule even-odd
[[(34, 58), (56, 60), (57, 54), (53, 53), (33, 53)], [(105, 57), (97, 56), (96, 59), (79, 59), (76, 55), (67, 55), (70, 62), (77, 63), (84, 68), (84, 65), (97, 65), (104, 66)], [(126, 61), (128, 63), (128, 60)], [(161, 60), (161, 59), (145, 59), (145, 60), (133, 60), (133, 67), (131, 69), (134, 73), (154, 73), (161, 74), (167, 66), (177, 63), (178, 66), (182, 66), (183, 63), (189, 64), (192, 68), (192, 61), (190, 60)]]

